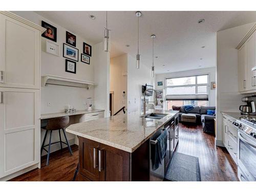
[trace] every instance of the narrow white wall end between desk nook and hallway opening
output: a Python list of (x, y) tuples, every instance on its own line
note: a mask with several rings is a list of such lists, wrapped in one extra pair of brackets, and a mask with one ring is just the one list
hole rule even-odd
[(104, 52), (100, 42), (94, 46), (94, 106), (105, 110), (105, 117), (110, 116), (110, 53)]

